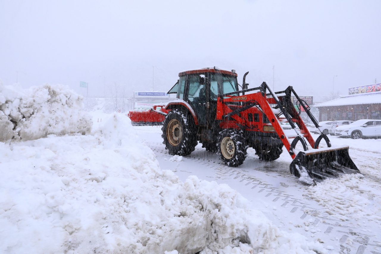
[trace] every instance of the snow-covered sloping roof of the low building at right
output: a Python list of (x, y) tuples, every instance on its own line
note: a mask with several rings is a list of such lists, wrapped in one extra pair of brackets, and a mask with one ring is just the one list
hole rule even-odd
[(341, 96), (338, 99), (326, 101), (315, 105), (316, 108), (332, 107), (332, 106), (345, 106), (345, 105), (358, 105), (358, 104), (377, 104), (381, 103), (381, 92), (373, 92), (359, 95)]

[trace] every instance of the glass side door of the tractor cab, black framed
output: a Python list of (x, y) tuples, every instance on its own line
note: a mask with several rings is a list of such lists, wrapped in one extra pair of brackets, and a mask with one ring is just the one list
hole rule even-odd
[[(201, 82), (200, 82), (201, 81)], [(201, 126), (207, 126), (207, 82), (202, 82), (200, 74), (191, 74), (188, 77), (188, 102), (196, 113), (197, 121)]]

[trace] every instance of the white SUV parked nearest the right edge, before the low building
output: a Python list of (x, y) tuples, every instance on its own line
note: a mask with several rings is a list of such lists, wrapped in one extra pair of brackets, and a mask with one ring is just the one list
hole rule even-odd
[(362, 119), (336, 127), (335, 136), (353, 139), (381, 137), (381, 120)]

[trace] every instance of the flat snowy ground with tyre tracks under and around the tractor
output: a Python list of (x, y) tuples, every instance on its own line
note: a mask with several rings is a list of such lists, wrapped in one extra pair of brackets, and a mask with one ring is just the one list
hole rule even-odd
[[(276, 161), (263, 162), (249, 148), (245, 162), (229, 168), (199, 144), (191, 155), (177, 161), (162, 144), (161, 126), (134, 128), (155, 152), (160, 166), (173, 170), (181, 180), (197, 175), (226, 183), (281, 230), (320, 241), (330, 253), (381, 253), (381, 139), (329, 136), (333, 145), (350, 146), (349, 154), (362, 175), (345, 175), (309, 186), (290, 174), (292, 159), (287, 152)], [(324, 141), (321, 146), (326, 146)]]

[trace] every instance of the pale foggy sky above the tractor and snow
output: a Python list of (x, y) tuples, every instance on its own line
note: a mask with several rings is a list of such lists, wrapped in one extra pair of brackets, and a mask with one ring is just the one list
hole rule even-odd
[[(299, 95), (381, 82), (380, 1), (0, 2), (0, 80), (104, 95), (117, 82), (167, 92), (187, 69), (235, 69)], [(22, 71), (22, 72), (21, 72)], [(24, 74), (24, 73), (26, 74)], [(102, 76), (102, 77), (100, 77)], [(109, 88), (106, 87), (106, 93)], [(315, 100), (320, 100), (316, 97)]]

